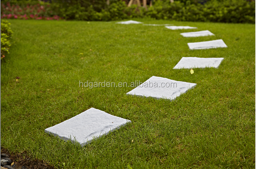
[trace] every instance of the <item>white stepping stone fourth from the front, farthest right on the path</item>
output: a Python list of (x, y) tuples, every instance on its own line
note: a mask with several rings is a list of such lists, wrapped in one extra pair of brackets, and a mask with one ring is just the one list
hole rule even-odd
[(227, 48), (228, 46), (222, 39), (210, 40), (204, 42), (188, 43), (189, 49), (211, 49), (211, 48)]

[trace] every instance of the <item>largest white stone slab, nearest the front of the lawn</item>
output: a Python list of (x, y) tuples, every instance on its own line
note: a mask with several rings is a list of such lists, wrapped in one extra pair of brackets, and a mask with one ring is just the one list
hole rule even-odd
[(107, 135), (109, 132), (119, 129), (130, 120), (113, 116), (98, 109), (88, 109), (75, 117), (56, 124), (44, 130), (48, 134), (58, 136), (62, 140), (76, 140), (83, 147), (93, 139)]

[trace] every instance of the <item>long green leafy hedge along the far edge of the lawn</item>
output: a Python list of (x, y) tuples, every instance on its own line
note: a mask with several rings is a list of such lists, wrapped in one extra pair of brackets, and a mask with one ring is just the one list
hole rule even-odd
[[(153, 6), (145, 10), (124, 1), (110, 0), (52, 0), (50, 8), (55, 15), (67, 20), (110, 21), (130, 18), (155, 18), (177, 21), (202, 21), (255, 24), (255, 1), (246, 0), (170, 0), (153, 1)], [(35, 3), (33, 0), (10, 0), (11, 4)], [(44, 2), (40, 2), (44, 3)], [(20, 4), (21, 5), (21, 4)], [(1, 10), (2, 11), (2, 10)], [(3, 13), (1, 13), (3, 15)], [(8, 15), (8, 13), (5, 13)]]

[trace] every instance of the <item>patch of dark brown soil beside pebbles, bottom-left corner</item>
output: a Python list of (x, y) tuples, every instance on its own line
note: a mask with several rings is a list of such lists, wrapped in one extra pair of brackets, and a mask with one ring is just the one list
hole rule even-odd
[(42, 160), (31, 159), (26, 152), (14, 154), (1, 147), (1, 154), (2, 153), (9, 155), (11, 161), (16, 165), (15, 169), (21, 169), (23, 166), (24, 169), (55, 169)]

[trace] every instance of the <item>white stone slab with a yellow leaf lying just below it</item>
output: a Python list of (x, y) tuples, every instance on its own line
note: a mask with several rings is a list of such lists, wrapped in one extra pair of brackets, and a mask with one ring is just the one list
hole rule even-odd
[(173, 69), (218, 68), (224, 58), (182, 57)]

